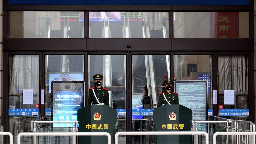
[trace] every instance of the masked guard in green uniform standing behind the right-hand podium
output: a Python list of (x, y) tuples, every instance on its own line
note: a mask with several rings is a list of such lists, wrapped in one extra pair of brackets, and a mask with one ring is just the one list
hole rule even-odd
[(159, 95), (158, 107), (165, 105), (165, 104), (179, 104), (179, 97), (178, 94), (172, 92), (172, 79), (164, 80), (164, 85), (166, 88), (166, 92), (162, 92)]

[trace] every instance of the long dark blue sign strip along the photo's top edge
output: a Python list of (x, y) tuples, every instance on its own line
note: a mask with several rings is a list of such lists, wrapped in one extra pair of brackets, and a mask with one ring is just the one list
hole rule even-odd
[(8, 0), (9, 5), (249, 5), (249, 0)]

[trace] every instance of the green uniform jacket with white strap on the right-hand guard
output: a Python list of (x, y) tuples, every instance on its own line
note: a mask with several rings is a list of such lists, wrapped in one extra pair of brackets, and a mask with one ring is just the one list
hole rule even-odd
[(178, 94), (175, 92), (171, 92), (171, 93), (167, 93), (167, 92), (163, 92), (160, 93), (159, 95), (159, 101), (158, 101), (158, 107), (162, 106), (163, 104), (168, 104), (167, 101), (164, 98), (164, 95), (166, 97), (166, 99), (168, 100), (168, 102), (170, 104), (179, 104), (179, 97)]

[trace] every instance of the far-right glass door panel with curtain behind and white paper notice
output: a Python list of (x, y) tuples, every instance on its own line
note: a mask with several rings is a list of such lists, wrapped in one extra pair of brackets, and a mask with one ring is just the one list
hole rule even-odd
[[(246, 55), (219, 55), (219, 104), (224, 109), (248, 109), (248, 58)], [(233, 104), (224, 102), (225, 90), (234, 90)]]

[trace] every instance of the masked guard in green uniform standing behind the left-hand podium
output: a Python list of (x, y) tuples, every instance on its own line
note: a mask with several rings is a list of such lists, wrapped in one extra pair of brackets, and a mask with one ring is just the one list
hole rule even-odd
[(109, 106), (108, 89), (101, 87), (103, 76), (96, 74), (93, 79), (95, 87), (89, 89), (88, 105), (105, 104)]

